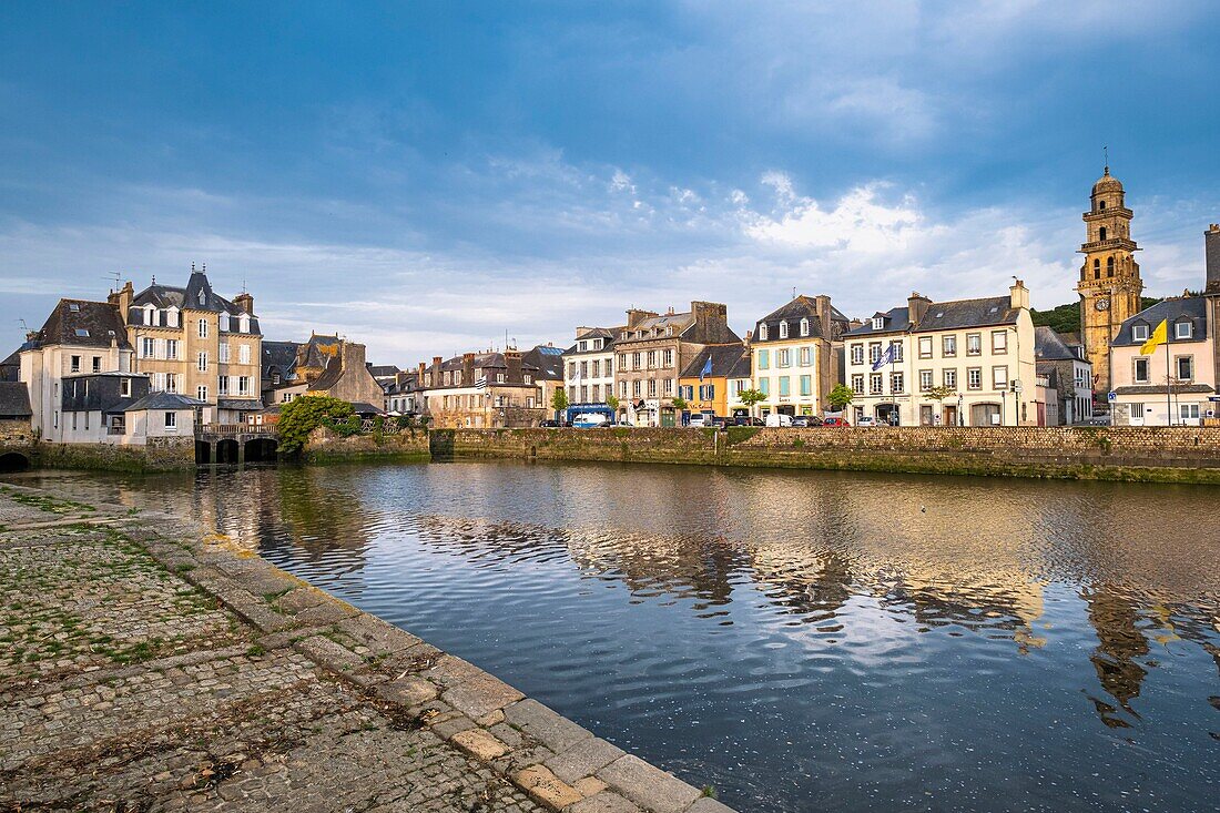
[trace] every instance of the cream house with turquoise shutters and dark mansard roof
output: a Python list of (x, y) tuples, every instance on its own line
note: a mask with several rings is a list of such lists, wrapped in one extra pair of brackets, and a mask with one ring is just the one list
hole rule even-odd
[(766, 394), (762, 415), (816, 415), (842, 380), (836, 348), (848, 319), (830, 297), (800, 295), (758, 321), (750, 337), (754, 387)]

